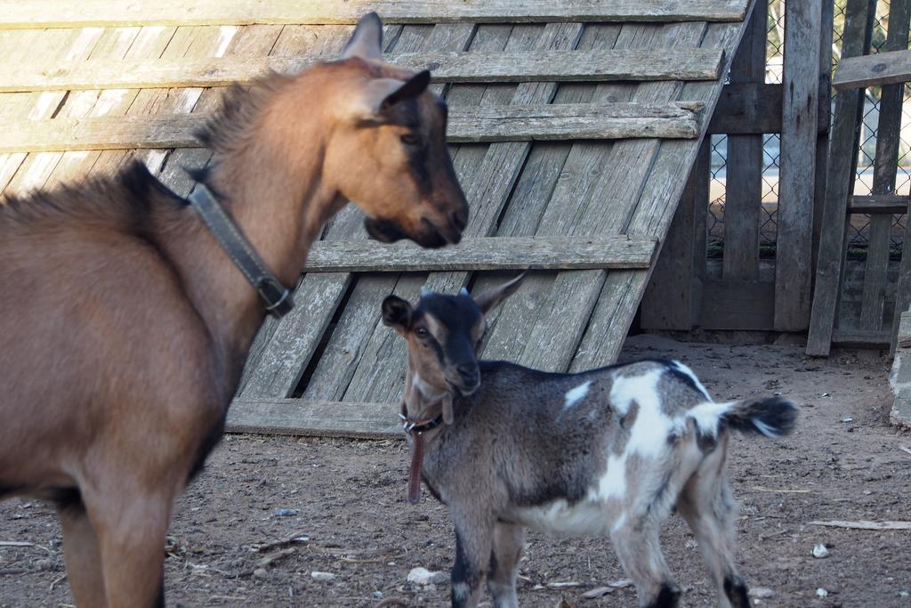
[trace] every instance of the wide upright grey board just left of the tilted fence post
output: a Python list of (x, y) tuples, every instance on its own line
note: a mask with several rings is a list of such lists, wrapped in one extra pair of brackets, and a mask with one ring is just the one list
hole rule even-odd
[(784, 5), (784, 101), (775, 264), (774, 328), (778, 331), (802, 331), (810, 325), (822, 14), (823, 0)]

